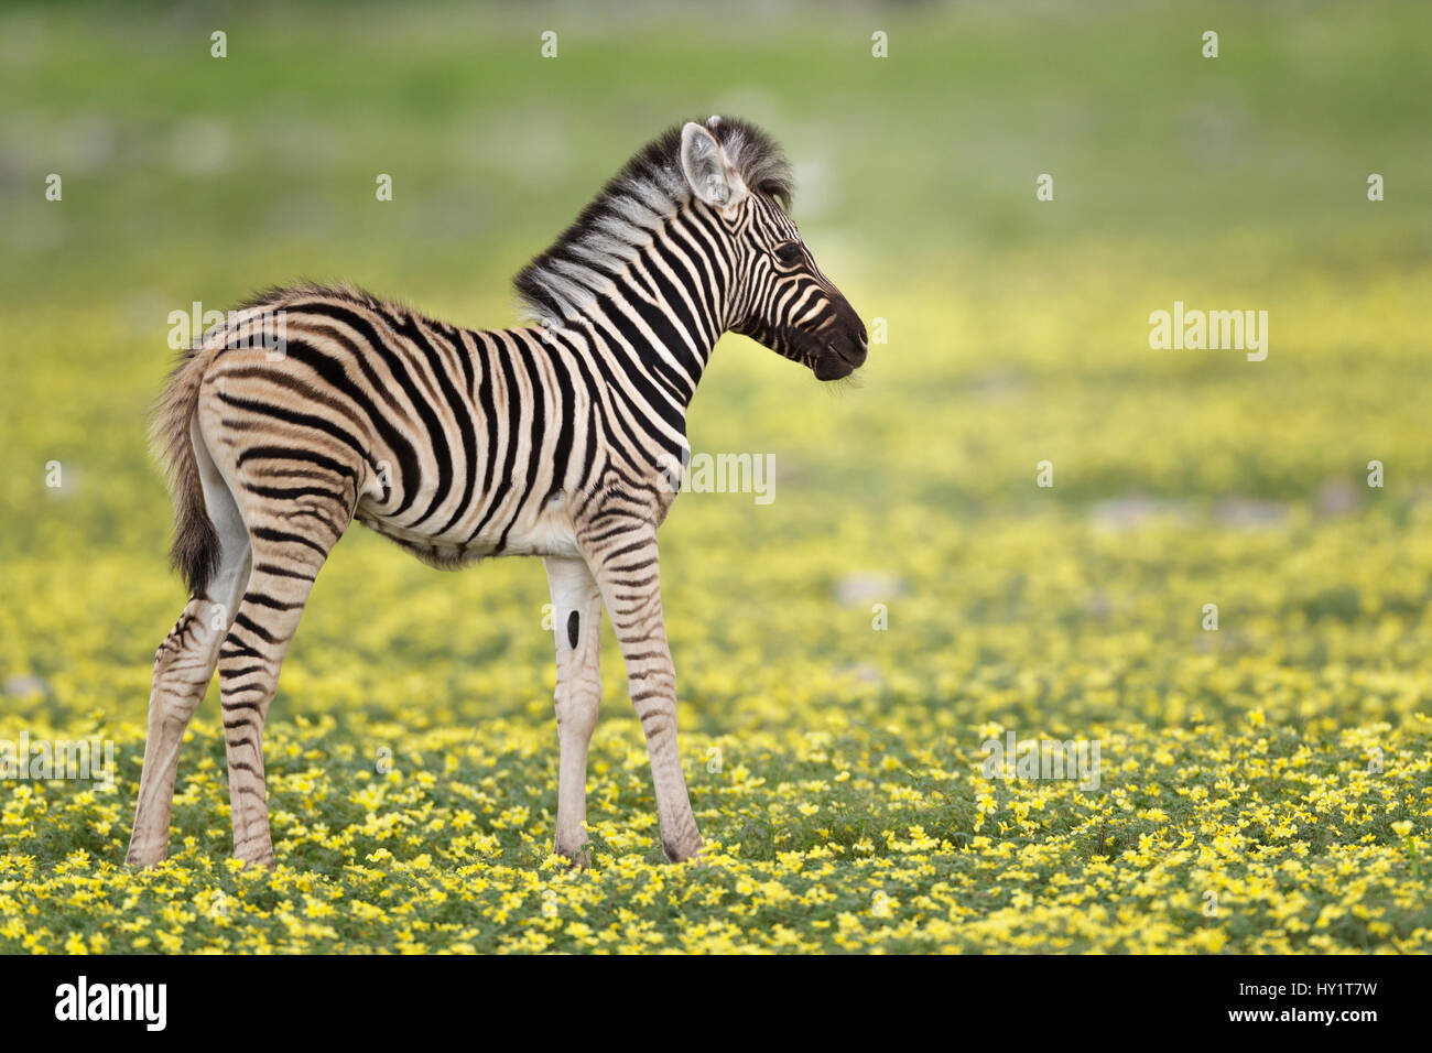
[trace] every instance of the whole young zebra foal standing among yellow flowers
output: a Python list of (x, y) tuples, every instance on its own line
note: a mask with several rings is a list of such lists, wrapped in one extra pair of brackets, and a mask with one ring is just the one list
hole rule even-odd
[[(674, 125), (514, 279), (530, 324), (468, 330), (352, 287), (269, 289), (180, 352), (153, 437), (189, 600), (155, 656), (126, 862), (168, 852), (179, 746), (215, 669), (233, 854), (271, 868), (262, 734), (319, 569), (351, 521), (421, 560), (543, 559), (556, 636), (554, 851), (590, 865), (587, 748), (606, 607), (652, 765), (667, 860), (697, 857), (676, 742), (656, 532), (717, 338), (818, 380), (865, 325), (788, 216), (780, 148), (742, 120)], [(282, 340), (272, 338), (272, 319)]]

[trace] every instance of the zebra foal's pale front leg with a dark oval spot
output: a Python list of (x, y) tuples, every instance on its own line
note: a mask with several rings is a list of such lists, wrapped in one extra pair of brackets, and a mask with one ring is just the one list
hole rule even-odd
[(601, 592), (580, 559), (543, 560), (557, 638), (557, 842), (573, 864), (591, 862), (587, 842), (587, 746), (601, 705)]

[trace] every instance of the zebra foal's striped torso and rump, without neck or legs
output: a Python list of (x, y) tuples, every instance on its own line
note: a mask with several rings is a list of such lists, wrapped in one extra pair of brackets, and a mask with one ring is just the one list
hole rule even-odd
[(275, 289), (206, 337), (196, 421), (255, 503), (347, 509), (442, 567), (571, 554), (567, 497), (591, 486), (600, 443), (566, 351), (541, 330), (465, 330), (357, 289)]

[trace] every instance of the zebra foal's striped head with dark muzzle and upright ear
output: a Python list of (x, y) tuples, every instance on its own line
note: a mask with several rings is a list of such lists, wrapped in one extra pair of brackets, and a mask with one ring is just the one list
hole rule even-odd
[(712, 117), (682, 128), (680, 160), (695, 198), (733, 236), (730, 330), (816, 380), (849, 377), (865, 361), (865, 324), (786, 215), (790, 176), (779, 149), (749, 125)]

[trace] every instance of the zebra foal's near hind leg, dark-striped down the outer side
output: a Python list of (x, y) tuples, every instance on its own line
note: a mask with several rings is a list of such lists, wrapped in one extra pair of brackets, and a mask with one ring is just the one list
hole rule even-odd
[[(252, 500), (255, 490), (242, 493)], [(253, 572), (219, 650), (219, 701), (229, 758), (233, 855), (272, 867), (263, 722), (314, 579), (352, 519), (352, 501), (305, 497), (245, 503), (243, 517)]]

